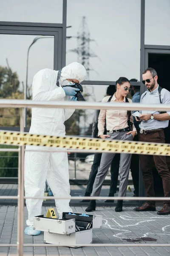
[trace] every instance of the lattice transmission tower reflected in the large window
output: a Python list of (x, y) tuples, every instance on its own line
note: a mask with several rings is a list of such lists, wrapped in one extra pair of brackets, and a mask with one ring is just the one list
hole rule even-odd
[(87, 71), (87, 80), (90, 79), (89, 72), (93, 69), (90, 67), (90, 58), (97, 57), (97, 55), (91, 51), (90, 42), (95, 41), (90, 38), (90, 32), (86, 23), (86, 17), (82, 17), (79, 30), (77, 32), (77, 48), (71, 49), (70, 52), (76, 52), (78, 55), (78, 62), (81, 63)]

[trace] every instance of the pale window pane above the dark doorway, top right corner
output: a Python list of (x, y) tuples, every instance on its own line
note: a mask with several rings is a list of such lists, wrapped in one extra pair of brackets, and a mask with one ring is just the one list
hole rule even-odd
[(170, 0), (145, 0), (144, 43), (170, 45)]

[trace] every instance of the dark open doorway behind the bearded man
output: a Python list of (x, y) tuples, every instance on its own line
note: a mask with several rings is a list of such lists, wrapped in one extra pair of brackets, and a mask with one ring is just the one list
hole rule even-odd
[[(149, 53), (148, 67), (152, 67), (158, 74), (158, 83), (162, 88), (170, 90), (170, 83), (167, 79), (170, 69), (170, 54), (168, 53)], [(169, 127), (164, 130), (166, 143), (170, 143), (170, 122)], [(167, 157), (167, 164), (170, 169), (170, 157)], [(162, 180), (155, 166), (153, 167), (154, 190), (156, 196), (164, 196)]]

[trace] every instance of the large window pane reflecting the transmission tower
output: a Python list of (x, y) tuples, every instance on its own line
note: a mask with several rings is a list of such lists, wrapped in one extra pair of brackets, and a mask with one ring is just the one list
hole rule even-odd
[(140, 6), (140, 0), (68, 0), (66, 63), (84, 64), (86, 80), (139, 80)]

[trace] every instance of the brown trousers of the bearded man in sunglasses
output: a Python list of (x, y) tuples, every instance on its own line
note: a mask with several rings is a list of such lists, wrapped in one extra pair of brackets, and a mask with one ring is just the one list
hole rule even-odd
[[(164, 131), (153, 131), (147, 134), (139, 134), (139, 141), (145, 142), (156, 142), (164, 143)], [(140, 155), (140, 164), (142, 169), (142, 176), (144, 182), (144, 189), (147, 197), (154, 197), (154, 186), (153, 186), (153, 160), (156, 166), (156, 169), (161, 176), (163, 188), (164, 188), (164, 197), (170, 197), (170, 171), (166, 163), (165, 156), (157, 155)], [(151, 202), (151, 201), (150, 201)], [(152, 201), (155, 204), (155, 201)], [(170, 205), (170, 201), (164, 201)]]

